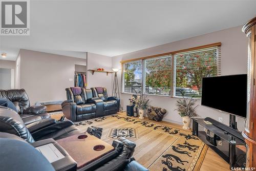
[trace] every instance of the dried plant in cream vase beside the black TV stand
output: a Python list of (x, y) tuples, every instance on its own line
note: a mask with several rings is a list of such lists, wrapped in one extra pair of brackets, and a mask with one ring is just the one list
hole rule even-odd
[(197, 106), (194, 107), (196, 100), (192, 98), (182, 98), (177, 100), (176, 106), (177, 109), (176, 111), (179, 112), (179, 115), (182, 117), (182, 122), (183, 122), (183, 129), (189, 130), (189, 124), (190, 124), (190, 118), (197, 116), (196, 113), (196, 108)]

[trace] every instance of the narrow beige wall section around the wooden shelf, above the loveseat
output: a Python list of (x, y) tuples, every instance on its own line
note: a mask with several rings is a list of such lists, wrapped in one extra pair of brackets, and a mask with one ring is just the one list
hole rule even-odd
[[(98, 68), (104, 68), (105, 71), (112, 71), (112, 58), (109, 56), (103, 56), (99, 54), (88, 52), (87, 67), (89, 70), (97, 70)], [(108, 95), (112, 95), (112, 77), (113, 74), (109, 73), (107, 76), (103, 72), (95, 72), (92, 75), (91, 71), (87, 72), (88, 88), (92, 87), (105, 87), (108, 90)], [(114, 78), (114, 77), (113, 77)]]

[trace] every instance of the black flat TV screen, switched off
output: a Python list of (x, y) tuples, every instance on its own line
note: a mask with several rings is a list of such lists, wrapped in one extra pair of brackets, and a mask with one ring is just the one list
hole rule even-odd
[(202, 78), (201, 104), (246, 118), (247, 74)]

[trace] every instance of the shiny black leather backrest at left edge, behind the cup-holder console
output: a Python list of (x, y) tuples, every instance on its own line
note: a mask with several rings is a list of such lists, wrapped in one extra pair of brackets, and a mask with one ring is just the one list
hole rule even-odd
[(17, 135), (29, 143), (34, 142), (18, 113), (4, 106), (0, 106), (0, 132)]

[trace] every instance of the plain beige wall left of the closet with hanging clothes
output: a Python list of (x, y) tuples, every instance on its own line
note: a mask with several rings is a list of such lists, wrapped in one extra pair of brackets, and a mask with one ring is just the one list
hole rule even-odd
[[(75, 65), (86, 65), (84, 59), (20, 50), (20, 88), (36, 101), (66, 100), (65, 88), (74, 87)], [(71, 80), (70, 80), (71, 79)]]

